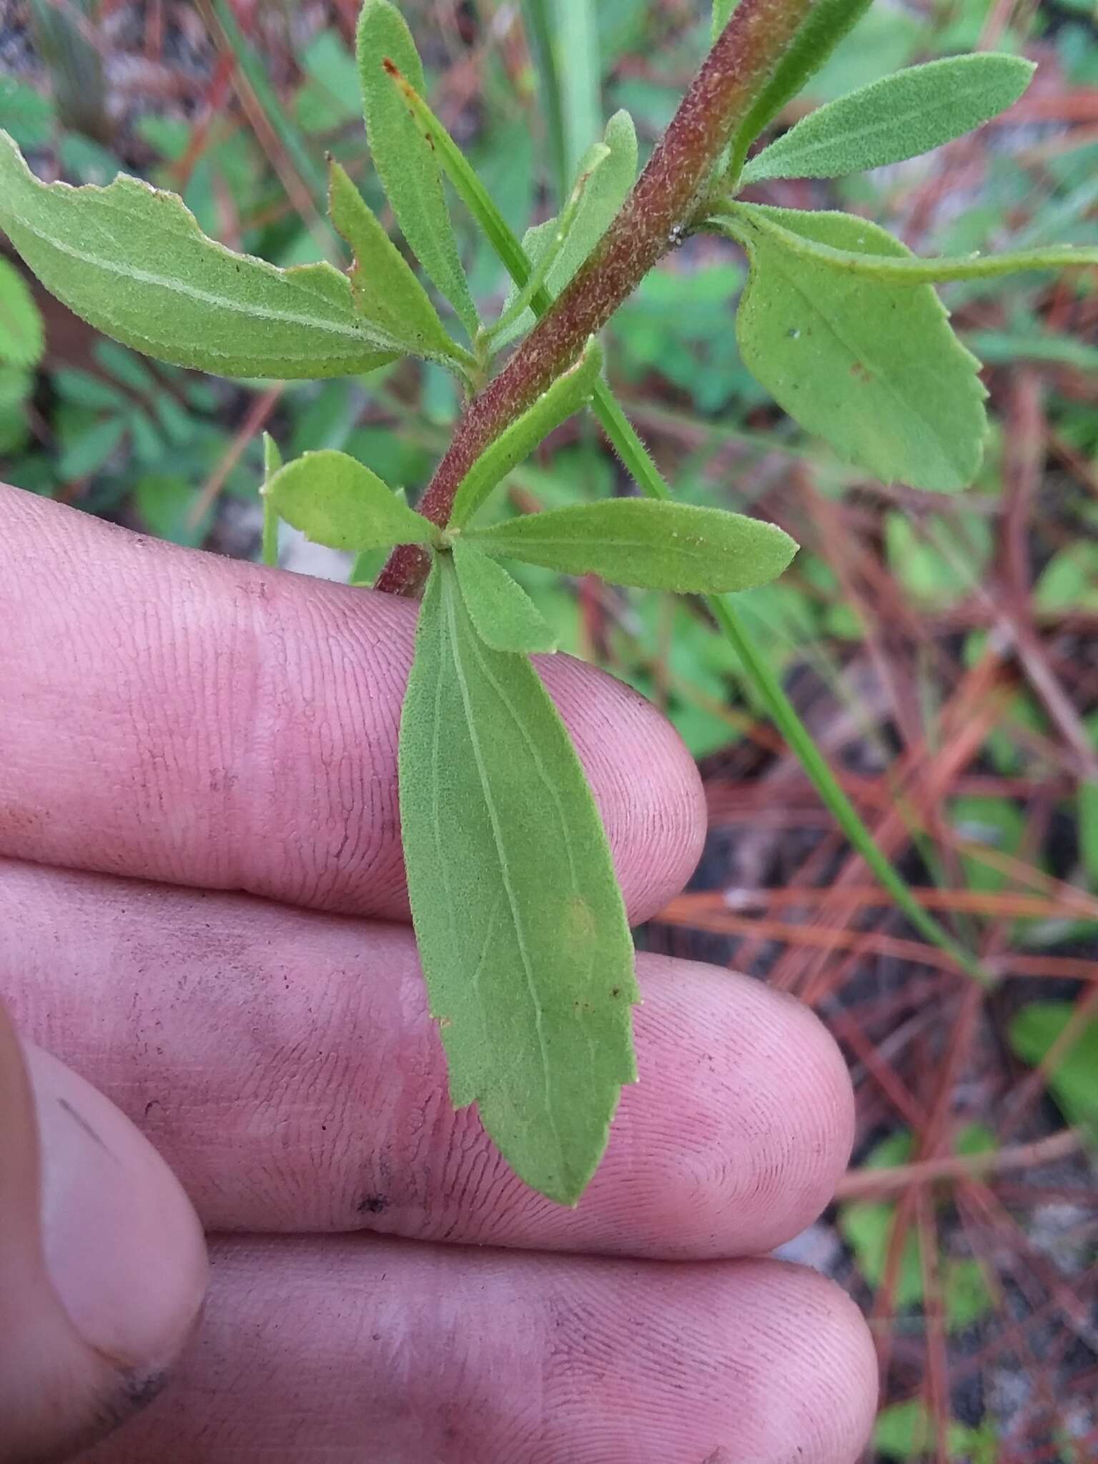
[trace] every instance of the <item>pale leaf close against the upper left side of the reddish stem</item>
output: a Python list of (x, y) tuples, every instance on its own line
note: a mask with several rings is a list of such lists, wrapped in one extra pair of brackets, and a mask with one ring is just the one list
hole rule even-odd
[[(606, 123), (603, 146), (605, 152), (589, 154), (574, 184), (574, 192), (580, 193), (575, 217), (571, 220), (556, 259), (545, 277), (545, 288), (553, 299), (564, 290), (610, 227), (637, 180), (637, 130), (628, 111), (616, 111)], [(556, 246), (558, 234), (556, 218), (527, 228), (523, 236), (523, 250), (534, 269), (546, 250)], [(505, 313), (511, 307), (514, 293), (508, 297)], [(533, 325), (533, 315), (521, 318), (501, 332), (501, 344), (511, 340), (523, 326), (530, 325)]]

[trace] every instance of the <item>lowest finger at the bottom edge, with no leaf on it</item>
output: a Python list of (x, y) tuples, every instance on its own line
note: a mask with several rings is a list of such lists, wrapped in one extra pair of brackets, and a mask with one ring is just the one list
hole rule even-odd
[(874, 1394), (851, 1301), (777, 1262), (242, 1240), (179, 1383), (88, 1464), (854, 1464)]

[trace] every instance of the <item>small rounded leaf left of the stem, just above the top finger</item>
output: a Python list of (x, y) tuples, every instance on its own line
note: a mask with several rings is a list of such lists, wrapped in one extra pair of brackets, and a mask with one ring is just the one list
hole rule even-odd
[(287, 463), (264, 483), (280, 518), (331, 549), (438, 543), (438, 529), (407, 508), (376, 473), (324, 448)]

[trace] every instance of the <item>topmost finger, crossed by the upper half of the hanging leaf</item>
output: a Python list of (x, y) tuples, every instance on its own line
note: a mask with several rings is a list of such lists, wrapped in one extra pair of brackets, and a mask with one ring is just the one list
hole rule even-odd
[[(0, 488), (0, 854), (407, 915), (397, 731), (416, 608), (192, 553)], [(694, 764), (635, 692), (543, 662), (634, 921), (704, 832)]]

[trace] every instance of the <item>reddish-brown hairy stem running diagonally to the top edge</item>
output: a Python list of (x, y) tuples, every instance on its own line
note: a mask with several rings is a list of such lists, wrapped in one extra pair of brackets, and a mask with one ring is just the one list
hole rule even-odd
[[(602, 242), (502, 372), (467, 406), (419, 502), (432, 523), (445, 524), (461, 479), (485, 448), (572, 365), (690, 225), (725, 143), (814, 4), (741, 0)], [(404, 545), (382, 569), (378, 589), (417, 594), (426, 571), (425, 550)]]

